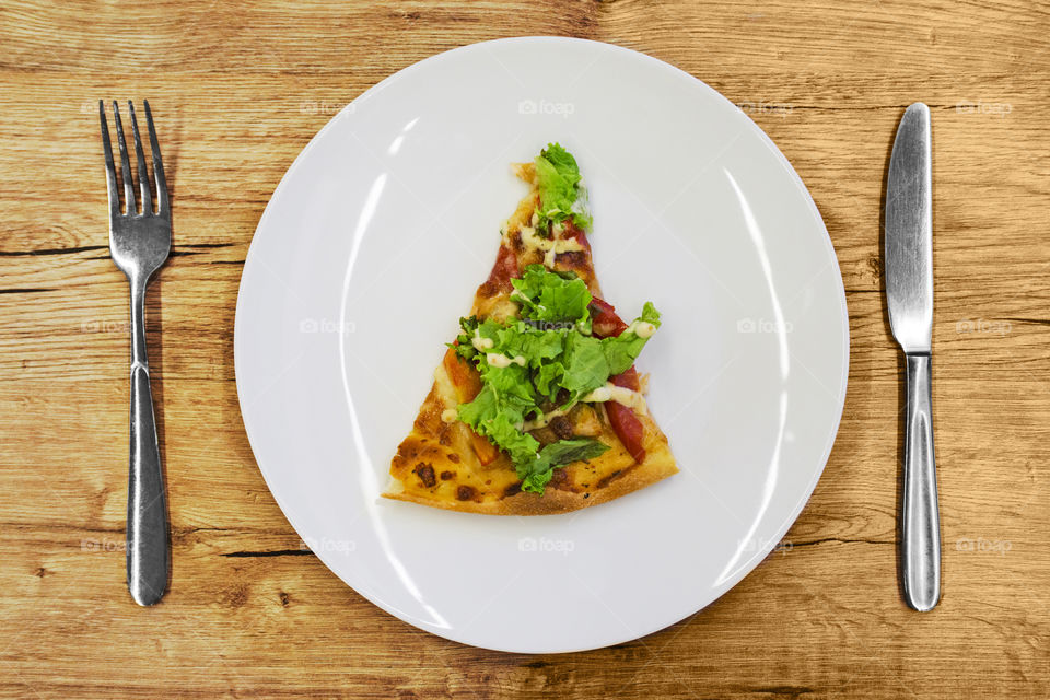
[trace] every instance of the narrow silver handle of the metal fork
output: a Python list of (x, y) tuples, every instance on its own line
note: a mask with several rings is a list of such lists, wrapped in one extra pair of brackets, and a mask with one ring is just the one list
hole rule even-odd
[(145, 352), (145, 281), (131, 282), (131, 440), (128, 468), (128, 591), (139, 605), (164, 596), (168, 572), (167, 508)]

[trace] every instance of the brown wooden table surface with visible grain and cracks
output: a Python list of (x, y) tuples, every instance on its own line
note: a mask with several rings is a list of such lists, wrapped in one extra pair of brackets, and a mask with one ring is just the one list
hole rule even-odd
[[(285, 168), (435, 52), (551, 34), (743, 105), (827, 222), (852, 336), (838, 442), (784, 546), (705, 610), (600, 651), (482, 651), (381, 611), (301, 548), (237, 409), (233, 320)], [(1018, 0), (31, 3), (0, 8), (0, 691), (5, 697), (1050, 695), (1050, 5)], [(149, 293), (171, 591), (125, 587), (127, 289), (96, 100), (151, 100), (174, 201)], [(901, 363), (882, 188), (933, 112), (940, 607), (896, 580)]]

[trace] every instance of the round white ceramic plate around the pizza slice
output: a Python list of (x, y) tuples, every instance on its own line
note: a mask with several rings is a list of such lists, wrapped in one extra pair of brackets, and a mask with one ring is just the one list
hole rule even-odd
[[(663, 313), (639, 366), (681, 474), (532, 518), (380, 499), (523, 195), (509, 164), (548, 141), (584, 173), (608, 299)], [(739, 109), (641, 54), (518, 38), (402, 70), (311, 141), (252, 242), (234, 345), (259, 468), (336, 574), (435, 634), (561, 652), (672, 625), (777, 545), (831, 450), (849, 330), (820, 214)]]

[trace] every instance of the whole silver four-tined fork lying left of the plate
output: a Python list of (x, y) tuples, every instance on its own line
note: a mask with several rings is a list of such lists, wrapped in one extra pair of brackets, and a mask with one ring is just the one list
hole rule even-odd
[(109, 256), (128, 278), (131, 288), (131, 440), (128, 469), (128, 591), (139, 605), (153, 605), (167, 586), (170, 540), (167, 508), (164, 502), (164, 480), (161, 472), (161, 453), (156, 444), (156, 423), (153, 418), (153, 394), (150, 390), (150, 362), (145, 353), (145, 287), (153, 273), (164, 264), (172, 247), (172, 212), (167, 201), (167, 184), (161, 148), (156, 143), (150, 103), (145, 106), (145, 121), (150, 130), (153, 155), (153, 175), (156, 179), (156, 211), (150, 194), (139, 125), (135, 105), (128, 101), (131, 132), (138, 160), (139, 189), (142, 211), (135, 199), (135, 184), (128, 147), (120, 124), (120, 110), (113, 102), (117, 145), (120, 150), (120, 179), (124, 182), (125, 210), (120, 209), (117, 173), (109, 145), (109, 125), (106, 108), (98, 102), (102, 120), (102, 144), (106, 153), (106, 184), (109, 192)]

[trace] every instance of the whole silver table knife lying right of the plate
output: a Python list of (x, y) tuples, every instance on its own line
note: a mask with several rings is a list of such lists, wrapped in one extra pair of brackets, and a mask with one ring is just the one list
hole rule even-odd
[(941, 518), (933, 456), (930, 357), (933, 334), (933, 191), (930, 108), (905, 110), (886, 185), (886, 300), (907, 359), (905, 488), (900, 562), (905, 598), (932, 610), (941, 597)]

